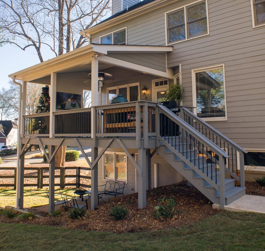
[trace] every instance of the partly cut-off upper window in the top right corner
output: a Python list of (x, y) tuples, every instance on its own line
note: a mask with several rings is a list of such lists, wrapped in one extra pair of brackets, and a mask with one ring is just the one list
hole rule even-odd
[(253, 27), (265, 25), (265, 0), (251, 0)]

